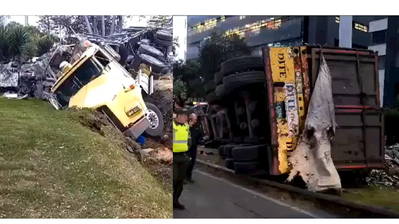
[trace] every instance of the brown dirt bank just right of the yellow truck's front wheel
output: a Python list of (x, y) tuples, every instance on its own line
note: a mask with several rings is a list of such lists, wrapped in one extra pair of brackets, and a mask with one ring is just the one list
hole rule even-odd
[(173, 80), (155, 80), (154, 93), (151, 98), (164, 117), (164, 131), (161, 135), (162, 143), (172, 148), (173, 121)]

